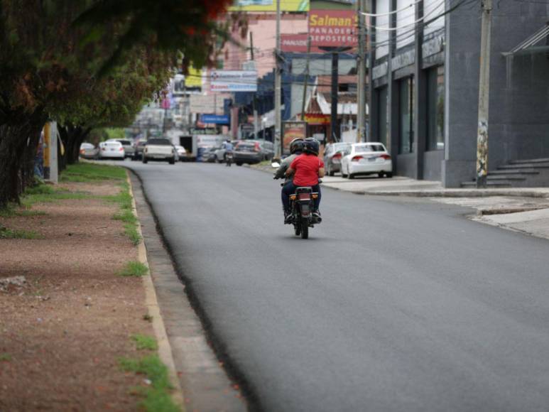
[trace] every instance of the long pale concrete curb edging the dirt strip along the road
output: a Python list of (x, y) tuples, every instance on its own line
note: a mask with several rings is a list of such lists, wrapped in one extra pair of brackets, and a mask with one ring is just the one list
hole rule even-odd
[[(131, 209), (139, 221), (136, 200), (134, 198), (134, 190), (132, 190), (131, 180), (128, 173), (128, 170), (126, 170), (126, 180), (129, 185), (129, 193), (131, 195)], [(141, 237), (141, 242), (139, 242), (137, 246), (138, 260), (147, 266), (149, 273), (148, 276), (143, 276), (143, 287), (145, 288), (145, 304), (148, 308), (148, 315), (151, 316), (153, 320), (153, 330), (156, 335), (156, 341), (158, 342), (158, 357), (160, 357), (163, 364), (165, 364), (168, 368), (170, 384), (173, 386), (173, 392), (171, 394), (172, 399), (180, 407), (181, 411), (185, 411), (185, 397), (183, 396), (183, 390), (181, 389), (179, 383), (177, 371), (175, 369), (175, 362), (173, 361), (172, 347), (170, 345), (170, 341), (168, 340), (168, 334), (166, 333), (160, 306), (158, 305), (158, 299), (156, 298), (156, 291), (151, 278), (151, 267), (148, 265), (147, 260), (147, 249), (143, 240), (143, 232), (141, 232), (141, 223), (138, 224), (137, 231)]]

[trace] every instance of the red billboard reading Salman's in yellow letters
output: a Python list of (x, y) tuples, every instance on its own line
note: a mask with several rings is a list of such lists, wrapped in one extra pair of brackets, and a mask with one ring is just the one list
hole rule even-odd
[(311, 48), (358, 45), (357, 12), (352, 10), (311, 10)]

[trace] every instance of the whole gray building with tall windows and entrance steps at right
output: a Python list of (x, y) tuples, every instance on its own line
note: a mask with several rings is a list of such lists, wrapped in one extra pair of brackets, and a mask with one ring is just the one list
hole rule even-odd
[[(369, 6), (376, 15), (370, 21), (369, 139), (388, 145), (398, 175), (441, 180), (447, 188), (473, 181), (481, 1), (369, 0)], [(502, 170), (513, 161), (549, 158), (548, 20), (549, 2), (494, 1), (492, 185), (527, 185), (531, 180), (506, 179)], [(549, 161), (540, 165), (549, 175)]]

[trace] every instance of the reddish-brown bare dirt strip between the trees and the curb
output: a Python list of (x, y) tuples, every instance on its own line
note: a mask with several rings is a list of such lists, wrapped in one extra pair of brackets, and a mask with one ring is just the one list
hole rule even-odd
[[(64, 183), (104, 196), (116, 183)], [(132, 388), (146, 383), (121, 372), (138, 357), (130, 337), (154, 335), (141, 278), (116, 276), (136, 247), (101, 199), (33, 206), (46, 215), (0, 217), (0, 225), (43, 239), (0, 239), (0, 278), (24, 276), (0, 291), (0, 411), (136, 410)]]

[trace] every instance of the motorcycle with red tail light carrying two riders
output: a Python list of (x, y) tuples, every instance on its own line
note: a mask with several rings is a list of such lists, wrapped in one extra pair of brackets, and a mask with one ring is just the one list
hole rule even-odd
[[(271, 166), (278, 168), (280, 164), (274, 162)], [(284, 183), (281, 183), (281, 186), (283, 185)], [(318, 193), (313, 192), (309, 186), (295, 188), (295, 193), (290, 195), (290, 222), (293, 224), (295, 236), (301, 236), (301, 239), (308, 239), (309, 228), (322, 222), (320, 217), (312, 214), (317, 198)]]

